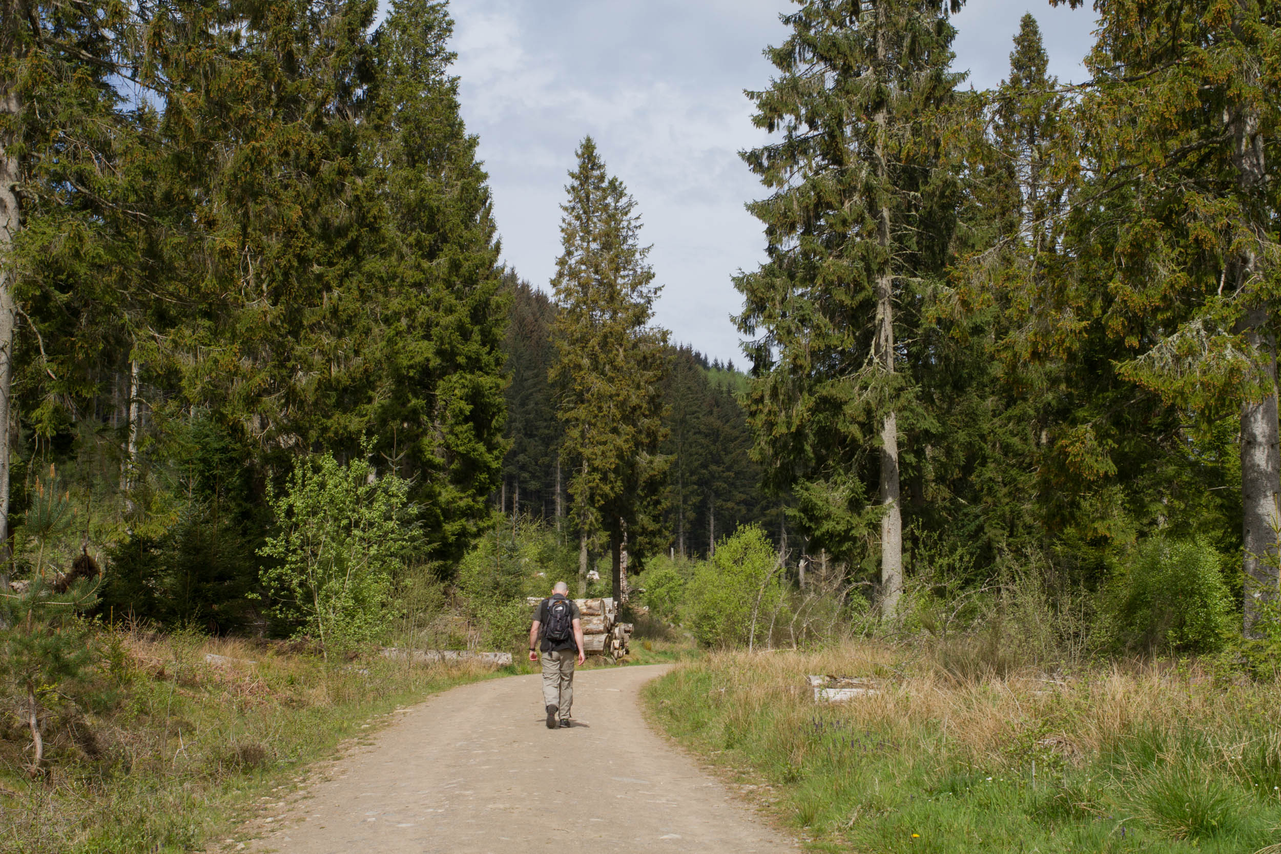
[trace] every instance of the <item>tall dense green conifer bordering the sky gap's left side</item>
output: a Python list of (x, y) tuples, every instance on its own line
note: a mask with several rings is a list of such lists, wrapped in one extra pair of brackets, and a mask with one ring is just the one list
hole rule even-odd
[(451, 35), (447, 5), (429, 0), (397, 0), (377, 33), (370, 129), (388, 219), (371, 252), (382, 292), (364, 312), (382, 366), (364, 429), (414, 483), (429, 553), (446, 562), (487, 524), (501, 479), (510, 298)]

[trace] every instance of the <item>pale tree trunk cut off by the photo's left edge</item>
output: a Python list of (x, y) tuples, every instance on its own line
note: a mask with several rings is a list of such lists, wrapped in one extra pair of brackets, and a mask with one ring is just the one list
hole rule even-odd
[[(0, 113), (10, 119), (17, 118), (19, 106), (18, 96), (12, 92), (0, 99)], [(13, 333), (18, 320), (13, 297), (13, 241), (19, 225), (18, 193), (14, 188), (19, 174), (18, 157), (12, 154), (12, 140), (4, 142), (4, 151), (0, 151), (0, 562), (8, 566), (9, 457), (12, 456), (9, 402), (13, 388)], [(5, 575), (8, 576), (8, 571)]]

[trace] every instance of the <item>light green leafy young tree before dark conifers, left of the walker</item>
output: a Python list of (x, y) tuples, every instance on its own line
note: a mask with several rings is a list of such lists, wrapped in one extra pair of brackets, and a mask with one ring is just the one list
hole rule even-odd
[[(371, 640), (388, 617), (392, 572), (410, 545), (406, 495), (396, 475), (374, 478), (365, 460), (298, 460), (283, 495), (269, 495), (277, 534), (259, 554), (274, 612), (323, 647)], [(328, 653), (327, 653), (328, 654)]]

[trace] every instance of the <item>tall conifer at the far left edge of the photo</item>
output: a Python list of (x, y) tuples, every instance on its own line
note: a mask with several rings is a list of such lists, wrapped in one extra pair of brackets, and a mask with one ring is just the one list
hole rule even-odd
[[(50, 362), (36, 325), (42, 306), (36, 303), (53, 302), (64, 315), (74, 316), (78, 305), (113, 302), (110, 288), (101, 287), (92, 275), (83, 279), (90, 293), (78, 292), (76, 286), (82, 284), (77, 274), (110, 255), (104, 251), (104, 220), (119, 220), (115, 214), (124, 201), (117, 192), (118, 174), (102, 166), (114, 165), (117, 150), (128, 147), (133, 136), (117, 109), (120, 97), (113, 78), (127, 59), (123, 47), (135, 33), (135, 20), (119, 5), (78, 1), (0, 5), (0, 548), (4, 560), (12, 535), (10, 465), (17, 451), (12, 443), (18, 433), (17, 398), (26, 392), (29, 408), (40, 410), (37, 430), (47, 440), (70, 420), (64, 403), (74, 399), (85, 384), (83, 371), (68, 371), (64, 365)], [(137, 211), (129, 213), (138, 218)], [(60, 271), (70, 275), (60, 278)], [(59, 302), (68, 305), (64, 309)], [(24, 335), (19, 334), (19, 320), (27, 321), (22, 326)], [(96, 364), (92, 352), (96, 330), (92, 323), (81, 330), (78, 347), (87, 359), (74, 367)], [(50, 350), (61, 343), (50, 339)], [(74, 347), (59, 350), (53, 356)]]

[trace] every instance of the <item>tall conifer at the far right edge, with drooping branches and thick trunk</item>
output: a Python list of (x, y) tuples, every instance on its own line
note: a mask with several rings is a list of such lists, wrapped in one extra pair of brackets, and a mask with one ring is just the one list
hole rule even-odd
[[(1072, 5), (1079, 5), (1073, 0)], [(1273, 296), (1281, 118), (1273, 0), (1099, 4), (1081, 105), (1093, 204), (1084, 243), (1112, 232), (1107, 335), (1121, 373), (1209, 420), (1239, 403), (1245, 630), (1277, 595)]]

